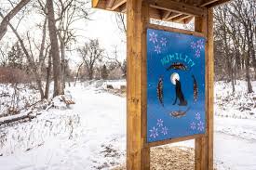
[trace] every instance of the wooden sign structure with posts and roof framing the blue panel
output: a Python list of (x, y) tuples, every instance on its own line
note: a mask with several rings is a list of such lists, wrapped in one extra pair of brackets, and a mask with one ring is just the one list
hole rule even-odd
[[(229, 0), (92, 0), (92, 7), (127, 13), (127, 169), (149, 170), (150, 148), (195, 139), (195, 170), (213, 170), (213, 11)], [(153, 25), (150, 19), (186, 24), (195, 31)], [(147, 142), (147, 29), (206, 38), (204, 135)]]

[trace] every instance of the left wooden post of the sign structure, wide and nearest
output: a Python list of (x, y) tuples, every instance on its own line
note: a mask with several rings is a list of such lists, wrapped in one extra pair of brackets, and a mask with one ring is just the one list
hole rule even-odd
[(127, 169), (149, 170), (146, 147), (146, 25), (148, 5), (142, 0), (127, 3)]

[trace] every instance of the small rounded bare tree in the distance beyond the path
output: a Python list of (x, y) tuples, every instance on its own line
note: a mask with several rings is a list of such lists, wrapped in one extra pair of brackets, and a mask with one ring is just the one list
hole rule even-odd
[(88, 79), (92, 80), (94, 75), (94, 69), (97, 62), (101, 61), (103, 49), (99, 44), (99, 40), (89, 40), (85, 46), (78, 49), (79, 53), (84, 60), (86, 70), (88, 72)]

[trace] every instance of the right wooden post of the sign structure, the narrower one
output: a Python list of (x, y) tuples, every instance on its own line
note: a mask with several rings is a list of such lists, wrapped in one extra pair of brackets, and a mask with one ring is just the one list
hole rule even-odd
[(195, 170), (213, 170), (213, 13), (207, 9), (207, 16), (195, 17), (195, 32), (206, 35), (206, 137), (195, 139)]

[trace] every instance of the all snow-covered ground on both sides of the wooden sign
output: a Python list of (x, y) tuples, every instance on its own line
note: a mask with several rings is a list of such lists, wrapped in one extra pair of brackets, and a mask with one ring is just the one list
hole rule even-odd
[[(105, 85), (102, 81), (78, 83), (67, 89), (75, 101), (70, 108), (51, 108), (31, 122), (0, 127), (0, 169), (90, 170), (124, 163), (126, 98), (107, 93)], [(229, 98), (230, 85), (215, 85), (214, 159), (218, 170), (256, 169), (256, 119), (249, 113), (256, 112), (255, 93), (247, 96), (245, 84), (240, 82), (240, 86), (237, 91), (244, 95), (235, 100)], [(256, 91), (256, 82), (253, 86)], [(240, 106), (250, 111), (239, 111)], [(194, 141), (175, 145), (194, 147)]]

